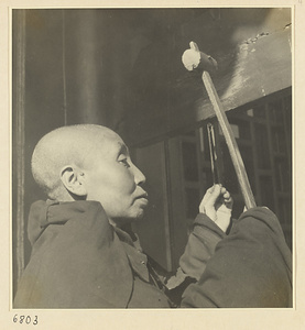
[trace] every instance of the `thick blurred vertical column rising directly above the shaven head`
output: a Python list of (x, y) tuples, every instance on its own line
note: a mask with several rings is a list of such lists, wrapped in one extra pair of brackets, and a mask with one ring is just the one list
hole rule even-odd
[(105, 16), (97, 10), (63, 13), (63, 78), (66, 124), (108, 123)]

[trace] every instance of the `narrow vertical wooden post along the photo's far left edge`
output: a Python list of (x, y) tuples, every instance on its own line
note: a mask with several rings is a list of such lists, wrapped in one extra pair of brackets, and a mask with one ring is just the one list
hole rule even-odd
[(24, 107), (25, 107), (25, 10), (12, 11), (12, 240), (13, 288), (24, 268)]

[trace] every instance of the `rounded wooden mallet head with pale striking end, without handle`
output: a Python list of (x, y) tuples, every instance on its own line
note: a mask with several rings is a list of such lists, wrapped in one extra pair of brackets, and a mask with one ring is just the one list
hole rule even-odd
[(209, 73), (217, 70), (217, 62), (200, 52), (196, 43), (190, 42), (189, 47), (182, 55), (182, 63), (187, 70), (193, 72), (197, 68)]

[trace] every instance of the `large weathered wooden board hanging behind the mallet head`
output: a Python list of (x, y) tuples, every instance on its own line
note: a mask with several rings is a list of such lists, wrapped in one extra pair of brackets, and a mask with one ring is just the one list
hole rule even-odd
[[(291, 9), (205, 11), (142, 50), (128, 102), (129, 143), (141, 145), (213, 116), (200, 74), (181, 56), (195, 41), (218, 62), (213, 80), (225, 110), (292, 86)], [(167, 33), (167, 35), (166, 35)]]

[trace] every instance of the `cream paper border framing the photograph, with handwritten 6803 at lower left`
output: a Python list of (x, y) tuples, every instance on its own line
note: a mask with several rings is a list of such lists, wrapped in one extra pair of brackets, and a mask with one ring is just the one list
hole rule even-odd
[[(1, 38), (0, 38), (0, 73), (1, 73), (1, 182), (2, 189), (0, 215), (2, 220), (1, 226), (1, 248), (0, 260), (2, 262), (2, 272), (0, 280), (1, 292), (1, 309), (0, 309), (0, 326), (2, 329), (18, 329), (22, 327), (32, 328), (33, 326), (17, 324), (12, 322), (12, 318), (17, 310), (10, 310), (10, 257), (11, 257), (11, 235), (10, 232), (10, 111), (11, 101), (9, 90), (11, 88), (11, 70), (9, 63), (9, 51), (11, 50), (9, 34), (9, 12), (11, 8), (153, 8), (156, 3), (153, 1), (90, 1), (84, 7), (84, 0), (78, 1), (44, 1), (32, 0), (31, 6), (28, 1), (7, 1), (0, 3), (0, 22), (1, 22)], [(268, 2), (268, 4), (266, 4)], [(26, 4), (25, 4), (26, 3)], [(107, 4), (108, 3), (108, 4)], [(229, 3), (229, 6), (228, 6)], [(63, 6), (64, 4), (64, 6)], [(290, 6), (287, 6), (290, 4)], [(295, 46), (295, 62), (293, 65), (294, 73), (294, 151), (293, 151), (293, 168), (294, 168), (294, 185), (295, 193), (294, 205), (294, 262), (295, 276), (294, 285), (296, 285), (295, 306), (293, 309), (192, 309), (192, 310), (25, 310), (24, 315), (39, 315), (40, 323), (34, 328), (40, 329), (304, 329), (304, 302), (305, 289), (303, 283), (304, 271), (304, 246), (305, 240), (303, 215), (305, 213), (305, 185), (303, 177), (303, 130), (305, 128), (305, 118), (303, 112), (304, 107), (304, 20), (305, 11), (302, 0), (298, 1), (162, 1), (157, 4), (160, 8), (200, 8), (200, 7), (291, 7), (295, 8), (296, 29), (293, 43)], [(8, 50), (4, 52), (3, 50)], [(9, 143), (8, 143), (9, 142)], [(10, 251), (8, 251), (10, 250)], [(10, 266), (9, 266), (10, 265)], [(20, 314), (20, 311), (18, 311)]]

